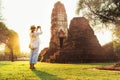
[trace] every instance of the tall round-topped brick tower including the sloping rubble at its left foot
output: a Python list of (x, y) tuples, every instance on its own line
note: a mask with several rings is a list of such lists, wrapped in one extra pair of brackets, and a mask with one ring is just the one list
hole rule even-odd
[(54, 4), (54, 8), (51, 14), (51, 39), (49, 48), (41, 51), (39, 56), (40, 61), (49, 62), (51, 60), (50, 57), (54, 55), (58, 49), (63, 47), (63, 43), (66, 40), (68, 34), (67, 27), (68, 23), (65, 7), (60, 1), (58, 1)]

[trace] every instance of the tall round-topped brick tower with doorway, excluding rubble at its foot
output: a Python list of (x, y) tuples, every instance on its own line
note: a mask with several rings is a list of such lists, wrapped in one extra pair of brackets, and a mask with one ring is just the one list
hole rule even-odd
[(67, 14), (64, 5), (58, 1), (52, 10), (51, 15), (51, 40), (50, 48), (59, 49), (63, 46), (67, 37)]

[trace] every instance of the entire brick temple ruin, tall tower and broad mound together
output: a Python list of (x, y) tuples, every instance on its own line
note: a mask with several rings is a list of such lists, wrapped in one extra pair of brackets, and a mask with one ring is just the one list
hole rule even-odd
[(89, 21), (74, 17), (69, 25), (64, 5), (55, 3), (51, 14), (51, 39), (41, 51), (39, 61), (52, 63), (81, 63), (116, 61), (114, 53), (107, 53), (99, 44)]

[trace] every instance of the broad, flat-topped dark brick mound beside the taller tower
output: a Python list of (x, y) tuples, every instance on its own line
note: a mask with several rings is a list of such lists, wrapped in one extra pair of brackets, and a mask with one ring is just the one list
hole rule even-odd
[(89, 21), (84, 17), (74, 17), (70, 22), (68, 31), (64, 47), (59, 53), (56, 53), (58, 55), (54, 62), (108, 62), (117, 59), (114, 53), (106, 54), (90, 27)]

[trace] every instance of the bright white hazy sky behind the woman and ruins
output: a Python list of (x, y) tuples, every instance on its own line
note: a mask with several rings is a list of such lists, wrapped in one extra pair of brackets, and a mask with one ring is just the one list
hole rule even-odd
[[(51, 13), (57, 1), (64, 4), (68, 26), (73, 17), (82, 16), (81, 14), (76, 15), (78, 0), (2, 0), (4, 21), (9, 29), (18, 33), (22, 52), (29, 52), (31, 25), (40, 25), (42, 27), (43, 34), (40, 36), (40, 50), (49, 46)], [(97, 37), (99, 42), (104, 44), (110, 40), (111, 34), (109, 31), (105, 31), (105, 33), (97, 34)]]

